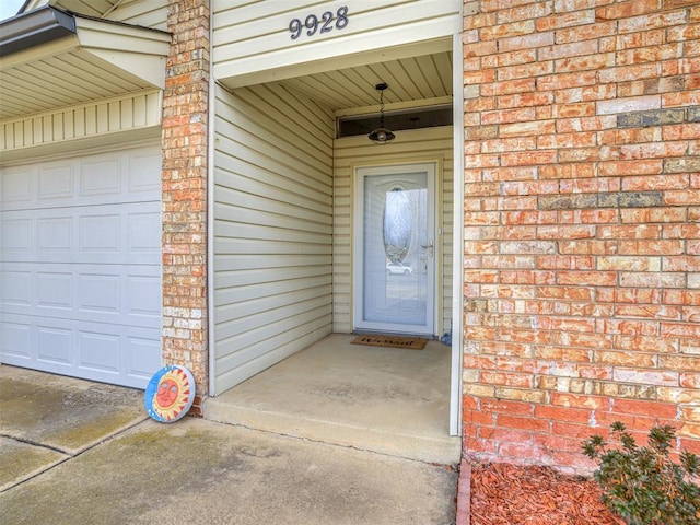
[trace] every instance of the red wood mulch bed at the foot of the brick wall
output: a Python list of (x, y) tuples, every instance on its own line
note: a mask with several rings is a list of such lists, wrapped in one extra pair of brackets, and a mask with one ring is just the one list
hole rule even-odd
[(620, 525), (593, 481), (551, 468), (481, 464), (471, 468), (470, 525)]

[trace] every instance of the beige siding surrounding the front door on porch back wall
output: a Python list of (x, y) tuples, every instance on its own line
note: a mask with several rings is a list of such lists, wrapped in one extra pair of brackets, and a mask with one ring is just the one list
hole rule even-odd
[[(441, 285), (438, 287), (436, 307), (442, 335), (450, 329), (452, 311), (452, 235), (453, 235), (453, 143), (452, 126), (397, 131), (396, 141), (376, 145), (366, 137), (349, 137), (335, 142), (335, 190), (334, 190), (334, 331), (352, 331), (352, 180), (357, 166), (384, 165), (416, 161), (440, 161), (438, 172), (436, 225), (442, 264)], [(442, 330), (441, 330), (442, 328)]]

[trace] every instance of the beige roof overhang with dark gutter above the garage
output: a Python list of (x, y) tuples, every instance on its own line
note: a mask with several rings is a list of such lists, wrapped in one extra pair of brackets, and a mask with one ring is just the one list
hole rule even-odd
[(0, 23), (0, 120), (163, 89), (171, 35), (50, 5)]

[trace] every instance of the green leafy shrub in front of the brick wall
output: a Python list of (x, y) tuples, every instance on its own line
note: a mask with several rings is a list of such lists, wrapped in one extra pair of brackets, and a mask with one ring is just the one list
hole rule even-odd
[(654, 427), (648, 446), (638, 446), (625, 425), (611, 425), (615, 445), (593, 435), (583, 453), (596, 460), (594, 478), (603, 489), (603, 501), (630, 525), (700, 524), (700, 472), (696, 454), (684, 452), (680, 464), (669, 457), (676, 435), (673, 427)]

